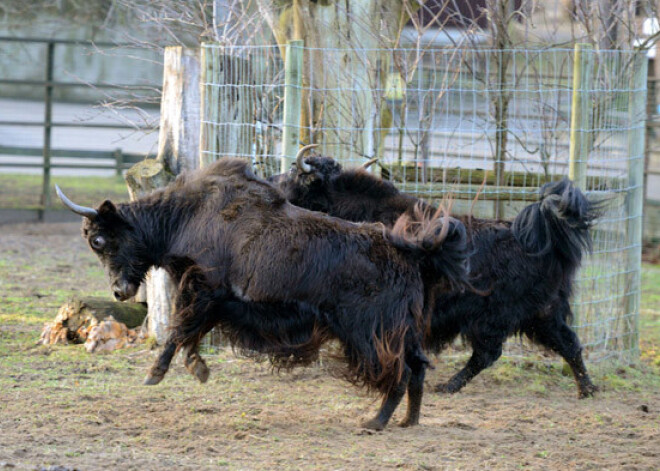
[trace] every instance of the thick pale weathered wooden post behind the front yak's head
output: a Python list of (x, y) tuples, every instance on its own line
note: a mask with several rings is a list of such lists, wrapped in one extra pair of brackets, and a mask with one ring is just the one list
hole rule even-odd
[[(199, 165), (199, 50), (165, 49), (160, 105), (158, 156), (126, 172), (131, 199), (167, 185), (174, 176)], [(175, 286), (162, 269), (151, 269), (146, 280), (149, 335), (165, 342), (174, 309)]]

